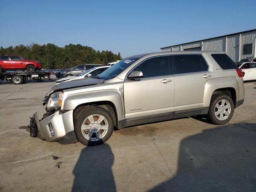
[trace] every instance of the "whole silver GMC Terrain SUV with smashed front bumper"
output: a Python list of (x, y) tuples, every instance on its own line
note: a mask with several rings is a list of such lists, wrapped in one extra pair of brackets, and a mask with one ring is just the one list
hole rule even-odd
[[(224, 52), (160, 52), (121, 60), (95, 78), (55, 85), (31, 136), (48, 142), (106, 142), (114, 127), (207, 114), (225, 124), (244, 102), (242, 71)], [(170, 122), (171, 123), (171, 122)]]

